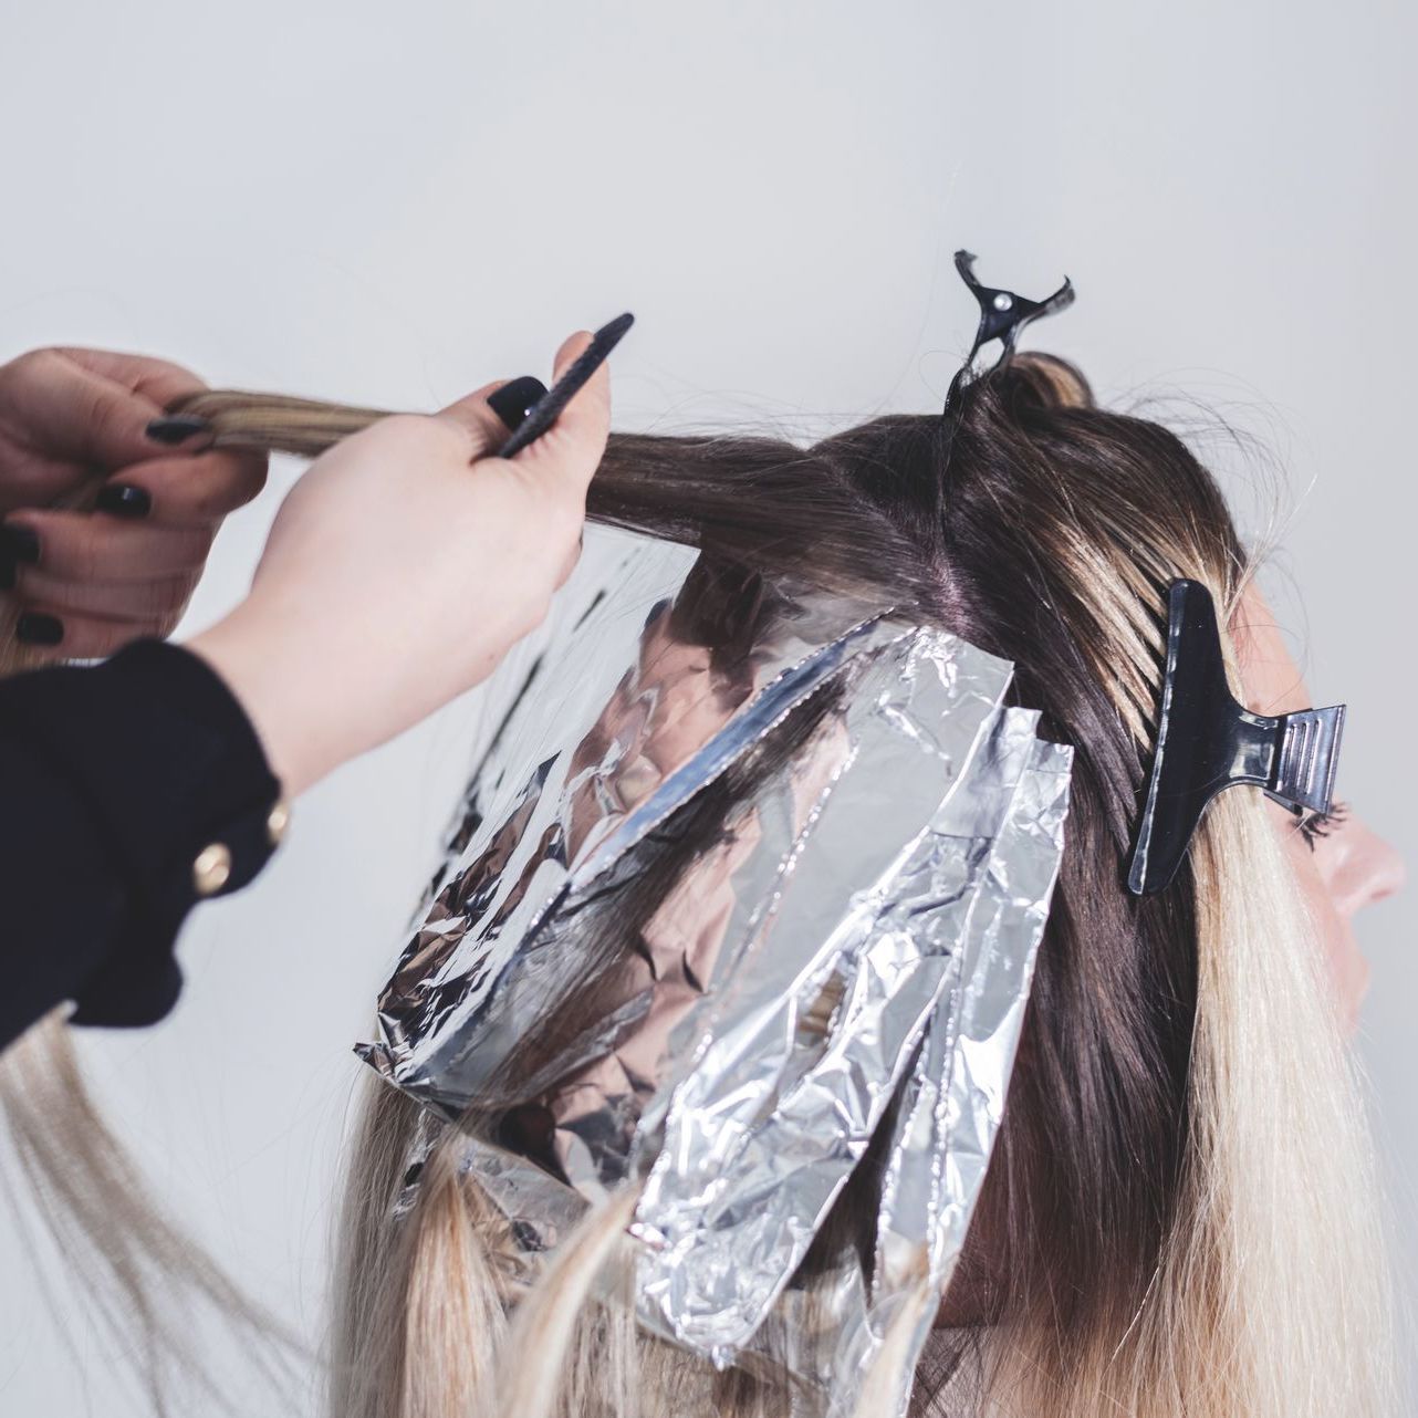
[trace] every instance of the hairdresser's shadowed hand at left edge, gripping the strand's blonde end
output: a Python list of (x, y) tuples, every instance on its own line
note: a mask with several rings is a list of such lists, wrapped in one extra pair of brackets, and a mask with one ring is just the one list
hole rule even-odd
[(203, 452), (180, 420), (147, 431), (204, 387), (102, 350), (0, 366), (0, 590), (21, 641), (89, 658), (177, 624), (221, 519), (265, 482), (265, 458)]

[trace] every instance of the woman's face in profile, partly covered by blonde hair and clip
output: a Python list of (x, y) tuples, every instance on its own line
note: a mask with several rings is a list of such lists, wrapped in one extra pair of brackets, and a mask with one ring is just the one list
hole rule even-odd
[[(1248, 709), (1279, 715), (1312, 708), (1305, 678), (1258, 591), (1251, 590), (1242, 598), (1231, 634)], [(1402, 886), (1402, 858), (1347, 804), (1337, 804), (1329, 820), (1313, 822), (1307, 832), (1280, 804), (1271, 803), (1271, 808), (1324, 947), (1340, 1014), (1353, 1029), (1368, 988), (1368, 961), (1354, 939), (1354, 915)]]

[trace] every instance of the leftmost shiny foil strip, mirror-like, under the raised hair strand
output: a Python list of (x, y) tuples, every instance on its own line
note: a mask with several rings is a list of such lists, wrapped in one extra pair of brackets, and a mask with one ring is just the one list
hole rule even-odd
[[(744, 664), (720, 676), (706, 647), (676, 637), (668, 597), (657, 596), (647, 618), (644, 591), (665, 588), (655, 574), (665, 560), (652, 556), (645, 574), (630, 559), (615, 591), (549, 648), (554, 683), (547, 676), (523, 700), (537, 722), (518, 723), (510, 752), (485, 766), (485, 825), (441, 873), (380, 997), (380, 1039), (360, 1048), (450, 1119), (525, 1032), (523, 1005), (554, 984), (532, 959), (533, 943), (537, 956), (567, 949), (564, 933), (545, 929), (553, 909), (564, 916), (584, 900), (574, 893), (594, 889), (855, 655), (906, 634), (859, 603), (780, 596)], [(644, 628), (623, 671), (611, 647), (631, 625)], [(553, 968), (570, 977), (573, 964)]]

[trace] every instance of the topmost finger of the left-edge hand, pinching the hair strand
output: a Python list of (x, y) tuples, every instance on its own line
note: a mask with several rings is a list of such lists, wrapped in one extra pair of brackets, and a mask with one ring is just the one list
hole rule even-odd
[(0, 428), (50, 464), (122, 468), (160, 452), (146, 428), (163, 403), (201, 387), (194, 374), (157, 360), (37, 350), (6, 366)]

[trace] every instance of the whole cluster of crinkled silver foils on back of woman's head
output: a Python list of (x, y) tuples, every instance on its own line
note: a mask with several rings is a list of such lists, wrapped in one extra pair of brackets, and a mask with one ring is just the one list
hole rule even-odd
[[(553, 638), (362, 1054), (430, 1110), (424, 1151), (459, 1122), (526, 1252), (638, 1183), (641, 1322), (845, 1412), (888, 1326), (925, 1343), (964, 1239), (1069, 750), (1008, 664), (845, 598), (771, 587), (726, 668), (685, 632), (691, 562), (637, 545)], [(685, 818), (715, 790), (710, 838)], [(647, 871), (674, 882), (648, 906)]]

